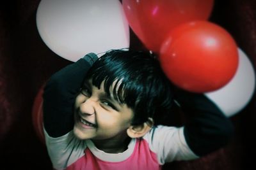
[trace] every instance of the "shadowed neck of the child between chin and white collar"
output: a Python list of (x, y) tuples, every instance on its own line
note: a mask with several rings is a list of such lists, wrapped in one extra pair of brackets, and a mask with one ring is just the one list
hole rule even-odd
[(94, 145), (106, 153), (121, 153), (127, 150), (131, 141), (129, 136), (124, 136), (119, 139), (93, 139)]

